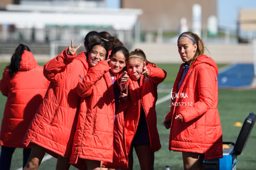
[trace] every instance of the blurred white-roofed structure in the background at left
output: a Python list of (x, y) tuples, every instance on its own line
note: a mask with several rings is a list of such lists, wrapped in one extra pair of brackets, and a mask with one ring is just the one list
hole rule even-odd
[[(136, 38), (134, 27), (142, 10), (110, 5), (109, 1), (96, 0), (20, 0), (17, 4), (6, 4), (0, 11), (0, 40), (49, 43), (56, 49), (70, 40), (82, 43), (88, 32), (96, 30), (108, 31), (130, 46)], [(51, 55), (58, 53), (57, 49)]]

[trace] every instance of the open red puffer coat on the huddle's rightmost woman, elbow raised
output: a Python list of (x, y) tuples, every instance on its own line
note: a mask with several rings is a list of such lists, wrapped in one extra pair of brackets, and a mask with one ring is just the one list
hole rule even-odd
[(148, 64), (147, 68), (149, 72), (148, 77), (143, 77), (142, 75), (140, 77), (140, 85), (132, 79), (129, 79), (129, 83), (127, 84), (131, 101), (129, 109), (124, 113), (127, 153), (130, 151), (130, 145), (137, 130), (137, 125), (139, 124), (141, 108), (145, 111), (151, 151), (155, 152), (161, 148), (156, 127), (155, 104), (158, 97), (157, 86), (165, 79), (166, 72), (158, 68), (155, 64)]

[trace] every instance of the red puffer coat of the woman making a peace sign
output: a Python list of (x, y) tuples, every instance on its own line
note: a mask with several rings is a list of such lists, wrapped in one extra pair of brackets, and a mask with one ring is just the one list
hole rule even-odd
[(57, 153), (68, 157), (80, 104), (75, 87), (87, 74), (88, 62), (85, 53), (70, 60), (66, 50), (45, 64), (44, 74), (51, 83), (24, 143), (36, 143), (53, 156)]

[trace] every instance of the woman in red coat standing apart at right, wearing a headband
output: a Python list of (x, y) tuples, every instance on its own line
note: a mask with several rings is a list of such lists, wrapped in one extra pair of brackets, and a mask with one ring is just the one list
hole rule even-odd
[(181, 151), (184, 169), (203, 169), (204, 159), (223, 157), (218, 113), (218, 67), (204, 53), (202, 40), (192, 32), (177, 40), (181, 64), (171, 91), (169, 150)]

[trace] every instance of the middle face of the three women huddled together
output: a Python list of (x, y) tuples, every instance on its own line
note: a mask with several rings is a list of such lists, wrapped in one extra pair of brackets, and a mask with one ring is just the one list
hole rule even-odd
[(109, 61), (110, 71), (113, 75), (117, 75), (126, 67), (126, 57), (121, 51), (117, 51)]

